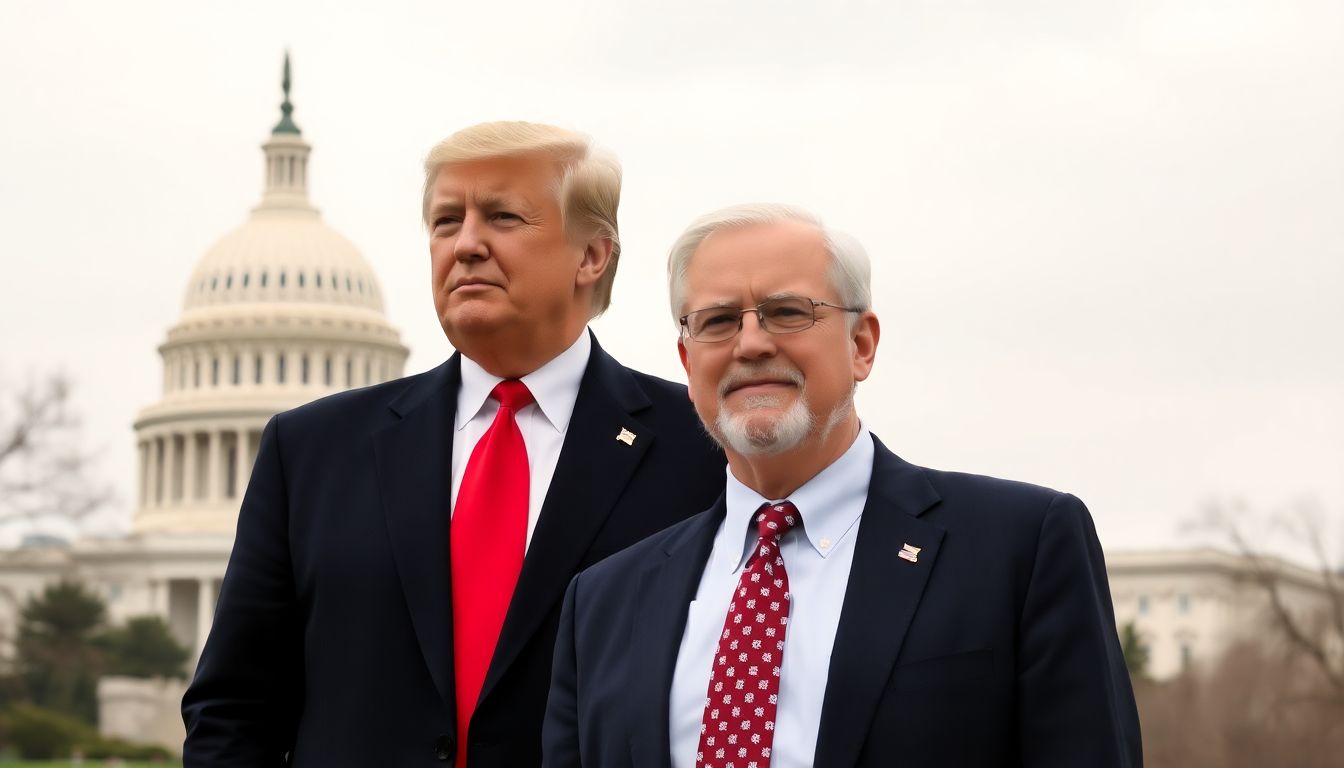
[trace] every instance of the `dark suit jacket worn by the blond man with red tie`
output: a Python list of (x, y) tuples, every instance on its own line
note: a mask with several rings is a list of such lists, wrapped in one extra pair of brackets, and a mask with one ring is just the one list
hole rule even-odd
[[(183, 699), (187, 767), (454, 757), (449, 486), (457, 355), (274, 417)], [(616, 436), (634, 433), (626, 445)], [(714, 500), (724, 460), (685, 387), (593, 342), (470, 726), (472, 768), (540, 763), (564, 585)]]

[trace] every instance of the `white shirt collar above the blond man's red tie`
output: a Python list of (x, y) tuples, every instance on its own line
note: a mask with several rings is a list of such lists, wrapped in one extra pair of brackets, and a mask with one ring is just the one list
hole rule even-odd
[[(591, 351), (593, 339), (585, 330), (567, 350), (521, 379), (532, 393), (538, 410), (556, 432), (563, 433), (570, 426), (574, 402), (579, 398), (579, 383), (583, 381)], [(476, 418), (485, 408), (495, 385), (504, 379), (487, 373), (476, 360), (462, 355), (462, 389), (457, 393), (454, 429), (462, 429)]]

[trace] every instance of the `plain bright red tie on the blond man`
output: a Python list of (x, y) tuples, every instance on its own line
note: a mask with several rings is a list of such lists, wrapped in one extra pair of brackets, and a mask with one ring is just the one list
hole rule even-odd
[(457, 768), (466, 765), (466, 726), (485, 683), (527, 546), (527, 445), (513, 416), (532, 402), (517, 379), (491, 393), (495, 422), (472, 449), (449, 539), (453, 568), (453, 671)]

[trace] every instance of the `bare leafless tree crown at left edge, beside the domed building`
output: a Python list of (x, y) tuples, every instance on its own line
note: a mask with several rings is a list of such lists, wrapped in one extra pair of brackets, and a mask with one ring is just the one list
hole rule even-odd
[(79, 521), (112, 500), (93, 477), (70, 390), (62, 374), (0, 385), (0, 523)]

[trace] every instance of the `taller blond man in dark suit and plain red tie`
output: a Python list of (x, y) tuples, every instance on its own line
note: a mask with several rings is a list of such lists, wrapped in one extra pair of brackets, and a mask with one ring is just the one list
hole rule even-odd
[(425, 163), (437, 369), (271, 420), (188, 690), (194, 765), (521, 767), (564, 585), (712, 502), (684, 386), (587, 330), (621, 169), (577, 133), (466, 128)]

